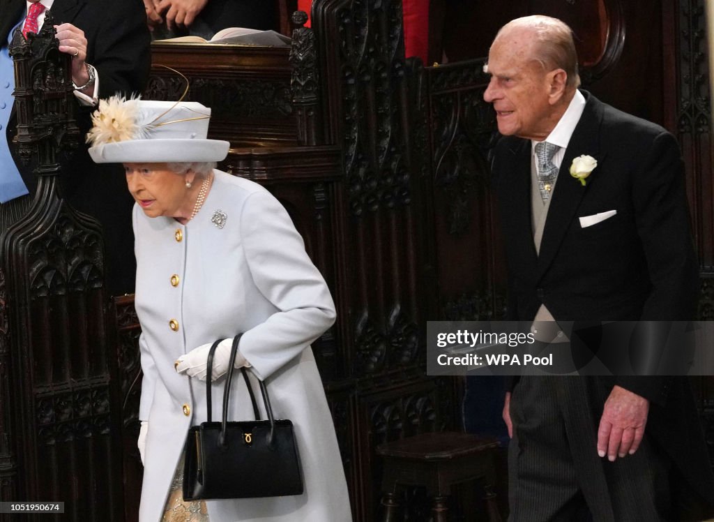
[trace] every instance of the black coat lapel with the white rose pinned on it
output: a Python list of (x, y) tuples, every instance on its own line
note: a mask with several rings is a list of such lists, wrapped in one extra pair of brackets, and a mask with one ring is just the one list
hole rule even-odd
[(585, 192), (588, 192), (590, 184), (595, 182), (598, 177), (598, 170), (595, 169), (583, 187), (577, 179), (570, 176), (570, 164), (573, 163), (575, 157), (588, 154), (598, 162), (602, 160), (599, 150), (602, 109), (596, 99), (588, 93), (584, 92), (583, 94), (587, 100), (585, 109), (580, 117), (580, 122), (575, 127), (573, 136), (570, 137), (568, 148), (565, 149), (565, 157), (563, 157), (563, 163), (560, 164), (558, 172), (558, 183), (555, 184), (555, 192), (553, 192), (553, 201), (550, 202), (548, 217), (545, 220), (543, 239), (540, 242), (540, 255), (538, 256), (539, 279), (543, 277), (558, 253), (560, 243), (575, 219), (575, 212), (577, 212)]

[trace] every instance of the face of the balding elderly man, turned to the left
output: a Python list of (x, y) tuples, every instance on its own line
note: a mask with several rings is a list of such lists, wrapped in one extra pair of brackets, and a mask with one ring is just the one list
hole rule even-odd
[(536, 141), (548, 137), (554, 127), (550, 74), (533, 59), (533, 35), (522, 29), (499, 35), (488, 53), (488, 74), (483, 99), (496, 109), (498, 131)]

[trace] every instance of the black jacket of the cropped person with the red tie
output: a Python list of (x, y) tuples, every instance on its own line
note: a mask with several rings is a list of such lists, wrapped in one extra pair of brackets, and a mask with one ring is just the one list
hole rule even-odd
[[(25, 0), (0, 0), (0, 48), (6, 46), (9, 31), (24, 15), (24, 9)], [(141, 0), (55, 0), (51, 13), (56, 24), (66, 22), (84, 31), (86, 61), (99, 72), (100, 98), (144, 90), (151, 64), (151, 37)], [(83, 136), (91, 127), (93, 110), (77, 103), (77, 122)], [(6, 131), (10, 143), (15, 132), (16, 120), (11, 118)], [(34, 174), (20, 162), (16, 164), (30, 193), (34, 192)], [(132, 292), (136, 271), (131, 233), (133, 200), (121, 165), (95, 164), (86, 145), (81, 144), (61, 166), (67, 200), (77, 210), (96, 217), (104, 227), (109, 292)]]

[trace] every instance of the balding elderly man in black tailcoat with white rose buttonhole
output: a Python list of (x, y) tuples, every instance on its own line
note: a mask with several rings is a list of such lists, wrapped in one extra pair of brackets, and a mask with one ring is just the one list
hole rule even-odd
[[(698, 267), (673, 136), (578, 90), (557, 19), (503, 26), (487, 70), (510, 318), (691, 319)], [(508, 390), (512, 520), (702, 516), (682, 493), (714, 505), (685, 378), (523, 376)]]

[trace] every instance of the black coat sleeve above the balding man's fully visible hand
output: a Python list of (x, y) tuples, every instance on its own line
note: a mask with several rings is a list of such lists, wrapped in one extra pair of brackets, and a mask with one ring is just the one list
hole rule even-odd
[[(641, 319), (690, 320), (697, 304), (698, 265), (691, 240), (683, 162), (678, 144), (668, 132), (653, 140), (633, 182), (633, 202), (652, 283)], [(655, 365), (664, 356), (665, 337), (650, 335), (646, 340)], [(630, 375), (617, 379), (618, 385), (659, 405), (667, 402), (670, 383), (668, 377)]]

